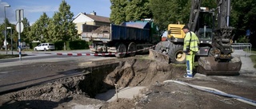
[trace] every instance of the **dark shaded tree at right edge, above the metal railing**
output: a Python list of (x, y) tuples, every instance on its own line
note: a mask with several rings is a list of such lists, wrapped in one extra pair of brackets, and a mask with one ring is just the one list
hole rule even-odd
[(256, 37), (256, 1), (254, 0), (236, 0), (231, 2), (232, 10), (230, 25), (234, 27), (234, 40), (241, 41), (246, 35), (246, 29), (252, 32), (250, 43), (255, 44)]

